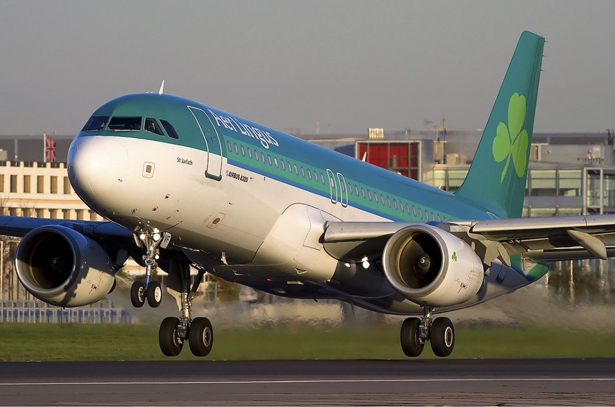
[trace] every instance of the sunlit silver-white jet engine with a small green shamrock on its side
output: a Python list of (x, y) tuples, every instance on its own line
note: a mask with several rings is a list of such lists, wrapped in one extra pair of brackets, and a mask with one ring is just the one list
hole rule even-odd
[(420, 305), (448, 307), (466, 302), (483, 285), (483, 265), (466, 242), (429, 225), (395, 232), (383, 252), (389, 283)]

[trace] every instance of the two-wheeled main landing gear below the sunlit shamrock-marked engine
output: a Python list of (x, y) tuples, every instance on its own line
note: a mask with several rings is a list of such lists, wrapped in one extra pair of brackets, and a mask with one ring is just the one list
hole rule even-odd
[(425, 342), (431, 342), (431, 349), (439, 357), (446, 357), (453, 352), (455, 330), (449, 318), (432, 319), (432, 307), (424, 307), (422, 318), (406, 318), (402, 324), (402, 350), (406, 356), (421, 355)]

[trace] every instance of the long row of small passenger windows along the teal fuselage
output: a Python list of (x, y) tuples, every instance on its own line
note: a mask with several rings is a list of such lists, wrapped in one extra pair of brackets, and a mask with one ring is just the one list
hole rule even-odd
[[(234, 151), (235, 154), (237, 154), (238, 156), (247, 156), (249, 159), (253, 159), (256, 162), (262, 162), (263, 164), (269, 164), (271, 166), (275, 166), (276, 168), (282, 168), (282, 171), (288, 170), (289, 173), (294, 172), (295, 175), (299, 175), (301, 173), (301, 176), (303, 176), (303, 178), (307, 177), (309, 180), (313, 180), (316, 183), (320, 181), (320, 183), (325, 185), (325, 175), (322, 172), (318, 173), (315, 170), (311, 170), (311, 168), (304, 168), (303, 165), (297, 166), (296, 164), (291, 164), (290, 161), (278, 159), (276, 156), (271, 157), (270, 154), (267, 154), (265, 156), (263, 152), (259, 153), (258, 151), (256, 151), (256, 149), (252, 150), (250, 149), (250, 147), (244, 148), (242, 144), (239, 144), (239, 146), (237, 145), (237, 143), (231, 144), (231, 141), (226, 141), (226, 146), (229, 152)], [(331, 183), (333, 188), (336, 188), (335, 178), (331, 176), (329, 178), (329, 182)], [(398, 201), (395, 198), (391, 200), (391, 197), (389, 196), (385, 197), (383, 194), (378, 194), (378, 192), (375, 191), (372, 192), (370, 189), (365, 189), (363, 187), (357, 186), (357, 184), (348, 183), (346, 188), (346, 185), (342, 183), (339, 187), (342, 194), (348, 191), (348, 194), (350, 196), (354, 195), (357, 197), (362, 197), (363, 199), (370, 200), (370, 202), (376, 202), (376, 204), (381, 204), (383, 206), (388, 206), (389, 208), (394, 208), (395, 210), (399, 210), (402, 213), (407, 213), (408, 215), (413, 215), (419, 219), (425, 219), (429, 221), (431, 215), (431, 220), (433, 221), (446, 221), (446, 216), (443, 216), (441, 218), (439, 214), (435, 214), (434, 212), (431, 212), (430, 214), (427, 210), (423, 210), (420, 207), (415, 207), (415, 205), (409, 205), (407, 202), (402, 202), (401, 200)]]

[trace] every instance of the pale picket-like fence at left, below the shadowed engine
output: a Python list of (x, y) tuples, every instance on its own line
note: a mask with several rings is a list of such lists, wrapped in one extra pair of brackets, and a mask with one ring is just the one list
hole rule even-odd
[(100, 301), (85, 307), (60, 308), (36, 300), (0, 301), (0, 322), (132, 324), (127, 310)]

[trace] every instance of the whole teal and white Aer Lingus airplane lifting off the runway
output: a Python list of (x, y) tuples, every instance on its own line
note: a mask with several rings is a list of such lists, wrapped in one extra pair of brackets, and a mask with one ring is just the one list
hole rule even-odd
[(454, 193), (161, 87), (108, 101), (71, 143), (69, 181), (107, 221), (1, 216), (0, 234), (23, 237), (18, 279), (55, 306), (100, 300), (130, 257), (146, 269), (132, 304), (157, 307), (152, 276), (166, 272), (180, 314), (159, 328), (167, 356), (186, 341), (196, 356), (212, 349), (212, 324), (191, 315), (207, 272), (278, 296), (408, 315), (404, 354), (430, 342), (446, 357), (454, 326), (436, 314), (536, 282), (549, 261), (615, 256), (613, 215), (520, 218), (543, 47), (542, 36), (521, 34)]

